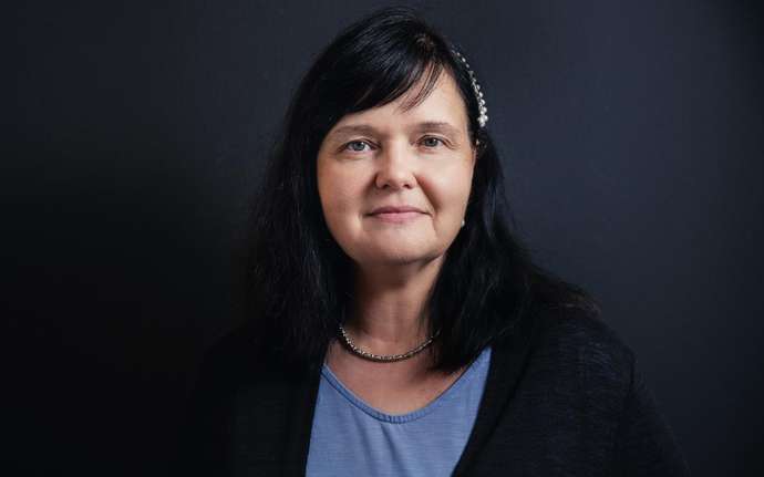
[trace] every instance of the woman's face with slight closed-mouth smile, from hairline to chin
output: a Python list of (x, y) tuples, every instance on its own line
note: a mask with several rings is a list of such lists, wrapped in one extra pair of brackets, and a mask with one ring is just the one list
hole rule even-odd
[(318, 189), (332, 236), (360, 266), (443, 256), (464, 219), (475, 166), (466, 108), (450, 74), (404, 112), (410, 94), (349, 114), (318, 154)]

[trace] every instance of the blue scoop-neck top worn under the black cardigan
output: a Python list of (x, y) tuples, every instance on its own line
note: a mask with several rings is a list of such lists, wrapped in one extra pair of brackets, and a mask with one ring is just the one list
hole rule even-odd
[(445, 392), (407, 414), (385, 414), (321, 370), (306, 475), (450, 476), (472, 432), (491, 348)]

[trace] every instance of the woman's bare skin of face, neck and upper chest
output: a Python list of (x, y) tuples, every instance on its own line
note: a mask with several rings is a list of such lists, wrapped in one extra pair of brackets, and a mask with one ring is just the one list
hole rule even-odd
[[(327, 226), (355, 266), (354, 310), (345, 330), (361, 349), (378, 354), (405, 352), (427, 338), (425, 302), (461, 230), (475, 167), (454, 80), (442, 73), (430, 95), (404, 111), (421, 87), (342, 117), (318, 154)], [(372, 214), (403, 205), (419, 211)], [(374, 363), (337, 342), (327, 364), (359, 397), (391, 414), (423, 407), (461, 374), (429, 371), (426, 352)]]

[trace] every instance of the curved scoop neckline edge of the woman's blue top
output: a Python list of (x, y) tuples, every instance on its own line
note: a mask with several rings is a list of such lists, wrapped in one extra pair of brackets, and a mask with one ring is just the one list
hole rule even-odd
[[(338, 393), (340, 393), (340, 395), (342, 395), (352, 405), (354, 405), (369, 416), (385, 423), (402, 424), (420, 419), (426, 416), (427, 414), (432, 413), (440, 406), (442, 406), (443, 403), (448, 401), (452, 395), (457, 393), (458, 390), (466, 385), (466, 383), (472, 381), (477, 371), (485, 367), (484, 365), (486, 364), (486, 362), (488, 363), (488, 365), (491, 365), (489, 361), (491, 346), (486, 346), (481, 352), (481, 354), (469, 364), (469, 366), (464, 371), (464, 373), (462, 373), (462, 375), (458, 376), (458, 379), (456, 379), (456, 381), (454, 381), (445, 391), (443, 391), (433, 401), (431, 401), (423, 407), (420, 407), (419, 409), (405, 414), (388, 414), (371, 406), (365, 401), (357, 396), (352, 391), (350, 391), (350, 388), (348, 388), (329, 369), (329, 365), (326, 362), (321, 366), (321, 376), (326, 379), (327, 382), (331, 384), (331, 386), (334, 390), (337, 390)], [(485, 370), (482, 374), (486, 376), (488, 374), (488, 371)]]

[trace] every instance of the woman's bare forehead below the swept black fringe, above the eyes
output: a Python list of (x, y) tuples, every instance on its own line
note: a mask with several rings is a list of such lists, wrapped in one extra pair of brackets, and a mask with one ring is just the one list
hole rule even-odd
[[(453, 128), (467, 132), (467, 112), (454, 79), (442, 71), (425, 97), (424, 76), (395, 101), (343, 116), (329, 135), (348, 131), (348, 125), (373, 124), (378, 128), (394, 129), (412, 123), (446, 123)], [(414, 103), (414, 104), (412, 104)]]

